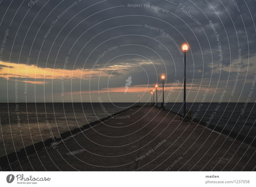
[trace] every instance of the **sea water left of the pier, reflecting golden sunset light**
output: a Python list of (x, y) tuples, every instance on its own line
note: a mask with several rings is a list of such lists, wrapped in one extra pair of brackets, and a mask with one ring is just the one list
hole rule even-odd
[[(0, 157), (131, 107), (131, 103), (1, 103)], [(49, 131), (49, 127), (51, 131)]]

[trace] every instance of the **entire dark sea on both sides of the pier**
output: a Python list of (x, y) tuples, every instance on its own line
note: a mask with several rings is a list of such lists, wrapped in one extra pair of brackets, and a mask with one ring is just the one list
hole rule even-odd
[[(50, 136), (82, 127), (136, 103), (1, 103), (0, 104), (0, 157), (44, 141)], [(151, 105), (151, 103), (140, 103)], [(254, 103), (187, 103), (196, 120), (210, 122), (251, 138), (256, 136)], [(217, 108), (217, 109), (216, 109)], [(165, 109), (183, 111), (183, 103), (167, 103)], [(51, 129), (51, 130), (49, 130)]]

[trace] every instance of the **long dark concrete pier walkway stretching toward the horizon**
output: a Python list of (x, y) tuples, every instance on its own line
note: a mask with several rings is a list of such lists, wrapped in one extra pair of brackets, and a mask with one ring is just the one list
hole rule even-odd
[[(130, 116), (130, 117), (127, 117)], [(256, 148), (138, 106), (11, 164), (13, 171), (252, 171)]]

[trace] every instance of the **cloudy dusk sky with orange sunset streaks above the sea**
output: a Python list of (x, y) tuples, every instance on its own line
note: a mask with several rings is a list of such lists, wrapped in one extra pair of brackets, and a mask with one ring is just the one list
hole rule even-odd
[[(1, 0), (0, 102), (255, 102), (256, 2)], [(130, 78), (129, 78), (130, 77)], [(156, 97), (156, 93), (154, 94)], [(156, 99), (156, 98), (155, 98)]]

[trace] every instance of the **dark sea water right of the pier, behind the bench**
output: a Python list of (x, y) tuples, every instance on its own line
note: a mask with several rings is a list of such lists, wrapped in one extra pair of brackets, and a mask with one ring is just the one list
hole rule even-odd
[[(243, 136), (255, 138), (256, 136), (256, 105), (248, 103), (186, 103), (186, 108), (192, 109), (192, 118), (227, 129)], [(183, 103), (168, 103), (165, 109), (176, 113), (183, 112)]]

